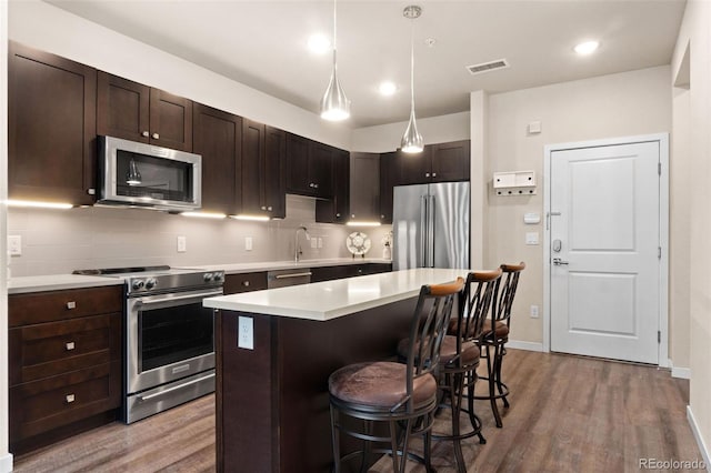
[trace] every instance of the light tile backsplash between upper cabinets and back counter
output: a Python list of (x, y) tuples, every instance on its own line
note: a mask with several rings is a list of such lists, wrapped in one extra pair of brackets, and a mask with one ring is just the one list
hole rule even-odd
[[(299, 234), (301, 258), (349, 258), (346, 239), (352, 231), (372, 242), (368, 258), (382, 256), (382, 236), (390, 225), (350, 228), (316, 223), (316, 200), (287, 195), (287, 218), (270, 222), (212, 220), (144, 209), (78, 208), (10, 209), (8, 234), (22, 239), (21, 255), (9, 258), (12, 276), (69, 273), (78, 269), (169, 264), (190, 266), (262, 261), (289, 261), (296, 230), (303, 225), (312, 240)], [(178, 236), (186, 252), (178, 252)], [(252, 250), (246, 249), (251, 238)], [(311, 248), (311, 241), (321, 248)]]

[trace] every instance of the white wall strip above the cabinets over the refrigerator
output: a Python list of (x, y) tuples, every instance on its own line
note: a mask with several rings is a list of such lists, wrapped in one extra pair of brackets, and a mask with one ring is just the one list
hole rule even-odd
[[(417, 111), (417, 110), (415, 110)], [(400, 148), (408, 122), (388, 123), (353, 130), (351, 151), (384, 153)], [(469, 112), (418, 119), (418, 130), (424, 144), (469, 140)]]

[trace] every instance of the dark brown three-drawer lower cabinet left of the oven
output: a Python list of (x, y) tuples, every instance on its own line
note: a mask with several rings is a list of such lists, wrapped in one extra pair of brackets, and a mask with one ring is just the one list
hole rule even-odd
[(8, 309), (10, 451), (116, 420), (122, 286), (10, 295)]

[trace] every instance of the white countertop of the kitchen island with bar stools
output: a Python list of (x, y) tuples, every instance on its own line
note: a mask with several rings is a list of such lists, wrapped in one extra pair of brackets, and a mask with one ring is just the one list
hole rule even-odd
[(227, 311), (328, 321), (414, 298), (423, 284), (450, 282), (457, 276), (465, 278), (469, 271), (419, 268), (221, 295), (203, 300), (203, 305)]

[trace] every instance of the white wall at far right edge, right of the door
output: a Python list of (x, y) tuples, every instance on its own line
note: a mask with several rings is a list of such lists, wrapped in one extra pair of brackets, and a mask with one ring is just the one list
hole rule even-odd
[[(691, 369), (689, 420), (707, 465), (711, 464), (711, 2), (688, 1), (677, 40), (671, 70), (678, 77), (683, 69), (687, 46), (690, 50), (689, 97), (674, 100), (674, 134), (688, 140), (687, 153), (674, 155), (689, 177), (687, 201), (690, 215), (689, 245), (689, 359)], [(671, 87), (671, 80), (670, 80)], [(683, 92), (681, 92), (683, 93)], [(674, 195), (672, 190), (672, 195)], [(683, 195), (683, 194), (682, 194)], [(680, 308), (685, 309), (683, 305)]]

